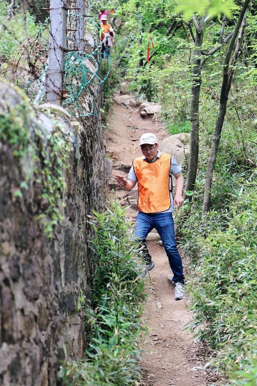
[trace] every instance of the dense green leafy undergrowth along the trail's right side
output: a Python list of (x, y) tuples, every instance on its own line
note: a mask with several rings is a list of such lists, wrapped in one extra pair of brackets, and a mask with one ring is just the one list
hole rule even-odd
[[(250, 116), (256, 119), (256, 110), (250, 115), (251, 98), (244, 101), (241, 92), (230, 103), (240, 111), (246, 103), (240, 119), (248, 117), (250, 122)], [(210, 105), (207, 110), (203, 109), (206, 121), (193, 200), (185, 203), (177, 218), (180, 244), (192, 262), (188, 281), (192, 327), (196, 337), (212, 347), (213, 366), (231, 383), (251, 385), (257, 353), (257, 146), (252, 141), (256, 129), (249, 122), (244, 127), (237, 114), (229, 112), (213, 176), (212, 210), (201, 218), (210, 147), (208, 135), (203, 135), (208, 132)]]

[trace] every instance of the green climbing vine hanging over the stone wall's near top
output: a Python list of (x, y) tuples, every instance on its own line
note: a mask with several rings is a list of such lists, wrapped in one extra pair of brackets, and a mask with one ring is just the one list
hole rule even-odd
[[(35, 183), (42, 184), (41, 198), (44, 205), (38, 218), (44, 234), (50, 238), (54, 225), (64, 220), (62, 210), (65, 203), (62, 195), (66, 190), (65, 173), (70, 168), (72, 144), (64, 126), (49, 111), (47, 115), (54, 127), (51, 133), (46, 132), (42, 125), (35, 124), (36, 110), (29, 105), (23, 94), (22, 98), (22, 102), (14, 107), (9, 105), (8, 111), (0, 112), (0, 140), (9, 144), (15, 157), (20, 160), (29, 157), (32, 160), (14, 196), (23, 197), (22, 191), (29, 189), (28, 182), (32, 176)], [(29, 129), (32, 122), (34, 135)]]

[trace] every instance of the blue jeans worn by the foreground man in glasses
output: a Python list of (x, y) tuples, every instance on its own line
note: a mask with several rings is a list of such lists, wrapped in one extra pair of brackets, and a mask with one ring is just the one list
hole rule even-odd
[(173, 272), (173, 281), (184, 283), (183, 267), (180, 254), (178, 253), (175, 241), (174, 221), (171, 212), (166, 213), (142, 213), (139, 212), (134, 227), (134, 237), (140, 240), (144, 247), (145, 259), (151, 260), (151, 255), (145, 244), (146, 236), (155, 228), (161, 237), (163, 247), (168, 256), (171, 270)]

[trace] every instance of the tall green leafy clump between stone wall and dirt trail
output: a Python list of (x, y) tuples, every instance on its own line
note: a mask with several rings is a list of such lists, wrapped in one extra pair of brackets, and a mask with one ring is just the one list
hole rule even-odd
[(86, 358), (62, 367), (59, 377), (67, 385), (125, 386), (140, 375), (138, 341), (145, 331), (141, 315), (146, 293), (141, 251), (125, 216), (115, 202), (108, 212), (92, 217), (95, 273), (85, 317)]

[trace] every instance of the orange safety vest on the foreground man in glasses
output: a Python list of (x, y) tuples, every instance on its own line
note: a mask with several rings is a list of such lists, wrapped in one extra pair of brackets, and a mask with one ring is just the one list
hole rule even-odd
[(143, 213), (165, 212), (171, 205), (172, 178), (170, 174), (171, 155), (161, 153), (155, 162), (147, 162), (144, 157), (133, 161), (138, 179), (138, 209)]

